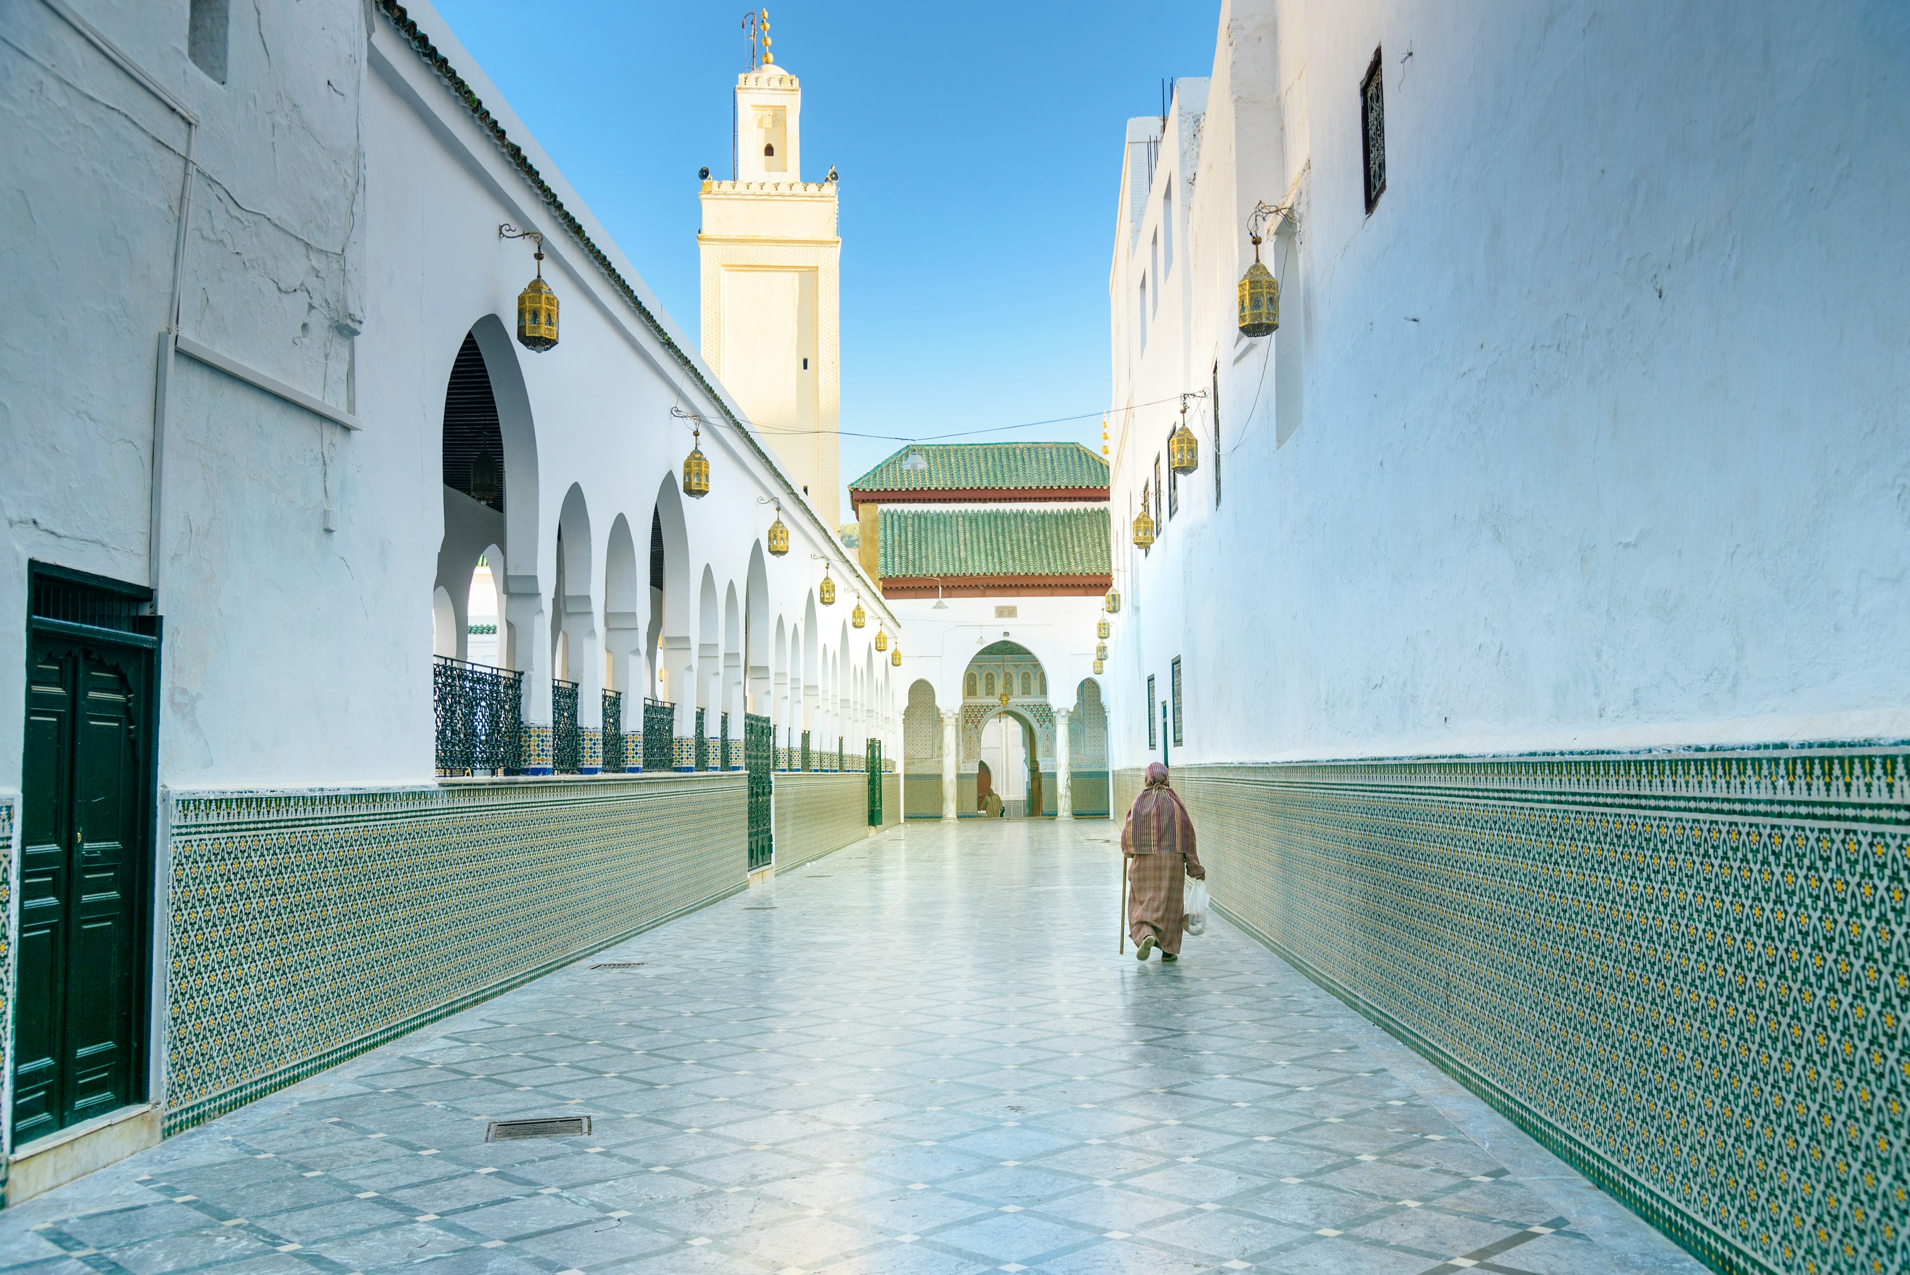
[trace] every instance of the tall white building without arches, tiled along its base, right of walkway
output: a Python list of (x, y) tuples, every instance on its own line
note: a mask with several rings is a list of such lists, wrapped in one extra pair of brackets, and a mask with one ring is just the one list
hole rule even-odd
[(1230, 0), (1188, 71), (1117, 809), (1171, 757), (1222, 912), (1717, 1269), (1900, 1269), (1902, 10)]

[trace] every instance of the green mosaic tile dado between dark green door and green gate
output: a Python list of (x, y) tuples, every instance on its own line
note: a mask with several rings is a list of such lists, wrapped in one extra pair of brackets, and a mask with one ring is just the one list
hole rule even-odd
[(707, 904), (741, 774), (176, 795), (166, 1134)]

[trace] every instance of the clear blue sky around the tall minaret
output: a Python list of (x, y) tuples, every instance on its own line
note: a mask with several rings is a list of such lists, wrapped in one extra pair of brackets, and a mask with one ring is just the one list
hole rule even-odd
[[(743, 4), (437, 0), (695, 338), (697, 168), (730, 176)], [(842, 480), (926, 438), (1100, 447), (1121, 138), (1213, 69), (1196, 4), (770, 6), (804, 180), (842, 174)], [(844, 501), (844, 510), (848, 508)]]

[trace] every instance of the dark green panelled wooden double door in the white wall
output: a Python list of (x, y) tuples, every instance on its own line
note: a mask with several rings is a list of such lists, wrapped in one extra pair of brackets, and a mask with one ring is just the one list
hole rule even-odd
[(149, 652), (32, 635), (13, 1145), (143, 1097)]

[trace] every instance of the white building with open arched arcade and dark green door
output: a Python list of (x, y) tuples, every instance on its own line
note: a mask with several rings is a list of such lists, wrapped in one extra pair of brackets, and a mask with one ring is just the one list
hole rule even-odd
[(900, 617), (428, 4), (0, 36), (10, 1199), (882, 818), (770, 770)]

